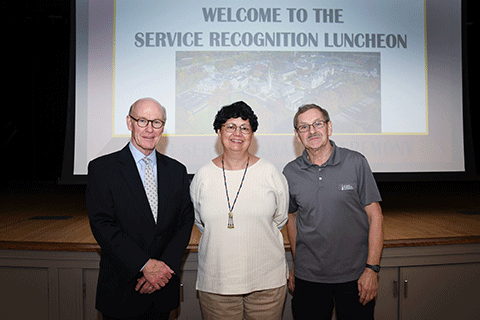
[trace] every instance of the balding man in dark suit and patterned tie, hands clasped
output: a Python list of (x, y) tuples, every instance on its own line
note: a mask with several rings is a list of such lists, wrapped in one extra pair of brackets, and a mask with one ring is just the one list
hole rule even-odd
[(104, 319), (168, 319), (193, 225), (185, 166), (155, 146), (165, 109), (150, 98), (127, 116), (130, 143), (89, 163), (87, 211), (101, 260), (96, 308)]

